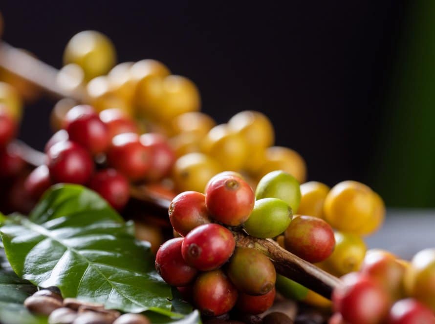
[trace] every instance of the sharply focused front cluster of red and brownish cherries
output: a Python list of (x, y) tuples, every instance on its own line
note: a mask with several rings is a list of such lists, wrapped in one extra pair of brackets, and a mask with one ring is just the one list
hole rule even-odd
[(235, 172), (213, 177), (205, 194), (183, 192), (170, 205), (171, 224), (183, 237), (160, 246), (156, 269), (184, 296), (192, 291), (192, 302), (204, 315), (219, 316), (233, 307), (259, 314), (273, 304), (273, 264), (253, 248), (236, 247), (231, 232), (246, 223), (254, 205), (254, 191)]

